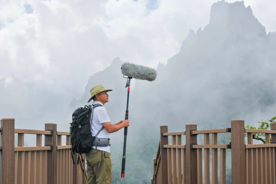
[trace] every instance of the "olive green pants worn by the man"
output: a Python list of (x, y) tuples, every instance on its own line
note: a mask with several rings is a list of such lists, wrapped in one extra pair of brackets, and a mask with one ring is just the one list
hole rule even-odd
[(86, 184), (112, 184), (110, 153), (92, 148), (85, 154)]

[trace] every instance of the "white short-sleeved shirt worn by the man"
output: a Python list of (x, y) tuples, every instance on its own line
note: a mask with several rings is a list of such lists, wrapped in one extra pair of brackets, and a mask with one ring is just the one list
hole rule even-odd
[[(98, 102), (98, 101), (94, 101), (93, 104), (101, 104), (102, 103)], [(92, 119), (92, 114), (90, 117), (90, 122)], [(104, 106), (99, 106), (94, 108), (94, 113), (93, 113), (93, 119), (92, 119), (92, 123), (91, 123), (91, 134), (92, 136), (95, 136), (98, 131), (103, 127), (102, 123), (105, 122), (111, 122), (110, 118), (108, 116), (107, 110), (105, 109)], [(110, 138), (109, 137), (109, 133), (106, 131), (106, 129), (103, 129), (97, 136), (97, 138)], [(92, 148), (96, 148), (96, 146), (92, 146)], [(110, 146), (97, 146), (98, 150), (102, 150), (102, 151), (107, 151), (110, 153)]]

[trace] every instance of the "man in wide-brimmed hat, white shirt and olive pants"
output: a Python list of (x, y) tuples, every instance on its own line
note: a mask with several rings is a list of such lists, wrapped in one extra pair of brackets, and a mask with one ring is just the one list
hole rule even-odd
[[(104, 105), (108, 102), (107, 92), (112, 91), (111, 89), (106, 90), (102, 85), (94, 86), (91, 90), (91, 98), (89, 98), (89, 103), (92, 99), (94, 100), (93, 105), (100, 104), (102, 106), (97, 106), (94, 108), (93, 117), (91, 114), (91, 134), (95, 136), (99, 130), (97, 138), (108, 139), (109, 144), (109, 134), (117, 132), (121, 128), (129, 126), (129, 120), (122, 120), (116, 124), (111, 124), (110, 118), (108, 116), (107, 110)], [(92, 119), (92, 121), (91, 121)], [(103, 141), (102, 141), (103, 142)], [(86, 173), (87, 180), (86, 184), (110, 184), (112, 183), (112, 166), (110, 157), (110, 145), (107, 146), (92, 146), (89, 153), (86, 156)]]

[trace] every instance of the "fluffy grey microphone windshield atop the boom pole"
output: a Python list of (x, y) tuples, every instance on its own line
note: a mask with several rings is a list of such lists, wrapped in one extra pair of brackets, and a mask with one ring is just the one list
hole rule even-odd
[(157, 71), (153, 68), (127, 62), (123, 63), (121, 69), (122, 74), (140, 80), (154, 81), (157, 76)]

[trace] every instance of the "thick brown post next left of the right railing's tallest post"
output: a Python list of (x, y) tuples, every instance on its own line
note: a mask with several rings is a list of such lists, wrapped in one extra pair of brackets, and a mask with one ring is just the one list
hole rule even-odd
[(192, 130), (197, 130), (197, 124), (186, 124), (186, 183), (197, 184), (197, 149), (192, 149), (197, 144), (197, 135), (192, 135)]

